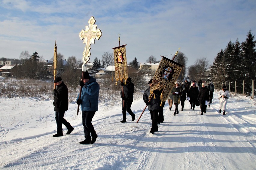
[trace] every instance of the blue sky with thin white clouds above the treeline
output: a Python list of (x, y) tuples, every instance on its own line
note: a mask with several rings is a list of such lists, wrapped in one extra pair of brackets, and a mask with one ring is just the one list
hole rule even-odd
[(181, 47), (187, 66), (202, 57), (212, 64), (228, 41), (241, 43), (249, 30), (256, 32), (255, 0), (1, 0), (0, 58), (36, 50), (49, 60), (56, 40), (65, 59), (81, 59), (85, 44), (78, 34), (91, 16), (102, 37), (91, 45), (90, 62), (113, 53), (120, 34), (128, 62), (172, 58)]

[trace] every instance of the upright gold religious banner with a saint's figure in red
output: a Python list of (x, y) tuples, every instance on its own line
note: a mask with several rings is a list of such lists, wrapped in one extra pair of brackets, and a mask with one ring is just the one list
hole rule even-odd
[[(114, 47), (115, 79), (122, 81), (128, 78), (125, 45)], [(117, 82), (116, 82), (117, 84)]]

